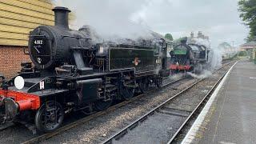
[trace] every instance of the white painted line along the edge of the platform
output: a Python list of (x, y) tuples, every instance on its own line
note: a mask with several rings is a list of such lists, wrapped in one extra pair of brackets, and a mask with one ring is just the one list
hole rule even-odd
[(210, 106), (214, 102), (214, 99), (216, 98), (218, 91), (221, 89), (222, 85), (226, 81), (227, 76), (230, 74), (230, 71), (233, 69), (233, 67), (238, 62), (235, 62), (233, 66), (230, 67), (230, 70), (225, 74), (225, 77), (222, 79), (222, 81), (219, 83), (217, 88), (214, 90), (214, 93), (210, 96), (209, 101), (206, 103), (206, 106), (202, 109), (202, 112), (198, 115), (198, 118), (195, 120), (194, 124), (191, 126), (190, 130), (186, 134), (186, 137), (182, 140), (182, 144), (191, 143), (195, 135), (197, 134), (200, 126), (202, 125), (203, 120), (206, 118), (206, 114), (210, 110)]

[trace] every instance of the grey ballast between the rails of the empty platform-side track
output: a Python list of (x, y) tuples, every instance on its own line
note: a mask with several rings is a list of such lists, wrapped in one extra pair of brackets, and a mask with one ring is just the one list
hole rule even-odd
[[(154, 113), (139, 126), (128, 132), (114, 143), (166, 143), (182, 126), (188, 115), (184, 111), (193, 111), (215, 82), (224, 74), (214, 74), (202, 82), (198, 82), (184, 94), (174, 98), (170, 103), (161, 108), (160, 113)], [(181, 112), (177, 115), (177, 110)]]

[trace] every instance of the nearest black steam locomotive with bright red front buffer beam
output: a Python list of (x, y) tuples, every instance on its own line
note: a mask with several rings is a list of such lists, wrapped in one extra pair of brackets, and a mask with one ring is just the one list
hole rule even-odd
[[(30, 32), (29, 54), (18, 76), (3, 78), (0, 90), (1, 122), (30, 122), (42, 132), (61, 126), (64, 115), (77, 110), (105, 110), (117, 99), (161, 86), (170, 74), (163, 38), (140, 44), (94, 44), (90, 30), (70, 30), (65, 7), (55, 7), (55, 26)], [(142, 44), (142, 43), (147, 44)], [(20, 77), (19, 77), (20, 78)]]

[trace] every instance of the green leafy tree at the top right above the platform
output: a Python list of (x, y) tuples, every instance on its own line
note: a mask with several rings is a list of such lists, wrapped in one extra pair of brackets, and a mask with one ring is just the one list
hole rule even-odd
[(246, 38), (247, 42), (256, 40), (256, 0), (240, 0), (238, 10), (241, 12), (240, 18), (246, 26), (249, 26), (250, 33)]

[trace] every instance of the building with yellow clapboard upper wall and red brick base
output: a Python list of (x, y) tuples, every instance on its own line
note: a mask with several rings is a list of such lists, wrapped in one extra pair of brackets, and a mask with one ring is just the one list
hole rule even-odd
[(0, 1), (0, 74), (10, 78), (30, 62), (27, 49), (29, 33), (39, 25), (54, 25), (50, 0)]

